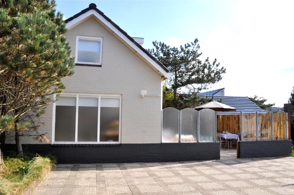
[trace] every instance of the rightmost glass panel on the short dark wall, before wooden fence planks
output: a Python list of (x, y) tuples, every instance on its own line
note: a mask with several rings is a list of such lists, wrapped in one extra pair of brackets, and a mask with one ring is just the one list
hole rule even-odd
[(285, 139), (285, 112), (273, 113), (273, 140)]

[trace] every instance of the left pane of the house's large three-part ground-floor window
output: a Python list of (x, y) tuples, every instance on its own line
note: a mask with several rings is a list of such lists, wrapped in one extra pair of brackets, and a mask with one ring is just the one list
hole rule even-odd
[(55, 142), (74, 142), (76, 134), (76, 97), (57, 97)]

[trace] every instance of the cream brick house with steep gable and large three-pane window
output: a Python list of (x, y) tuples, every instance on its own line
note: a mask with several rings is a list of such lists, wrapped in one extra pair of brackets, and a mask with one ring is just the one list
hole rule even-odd
[[(60, 162), (85, 156), (88, 162), (115, 162), (139, 150), (155, 155), (161, 147), (162, 85), (172, 73), (140, 45), (143, 38), (129, 36), (95, 4), (65, 22), (75, 73), (63, 80), (64, 93), (41, 118), (39, 132), (49, 143), (22, 137), (23, 148), (53, 151)], [(7, 148), (14, 143), (6, 138)]]

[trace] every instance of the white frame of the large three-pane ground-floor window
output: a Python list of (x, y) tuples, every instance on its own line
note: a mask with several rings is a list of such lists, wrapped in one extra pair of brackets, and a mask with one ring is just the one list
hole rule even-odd
[[(97, 127), (97, 142), (78, 142), (78, 98), (79, 97), (91, 97), (98, 99), (98, 127)], [(52, 144), (120, 144), (121, 143), (121, 95), (117, 94), (93, 94), (93, 93), (62, 93), (59, 97), (76, 97), (76, 131), (74, 142), (55, 142), (55, 112), (56, 103), (53, 103), (53, 115), (52, 115)], [(56, 95), (54, 94), (54, 99)], [(100, 102), (101, 98), (119, 99), (119, 132), (118, 142), (100, 142)], [(58, 97), (57, 97), (58, 99)]]

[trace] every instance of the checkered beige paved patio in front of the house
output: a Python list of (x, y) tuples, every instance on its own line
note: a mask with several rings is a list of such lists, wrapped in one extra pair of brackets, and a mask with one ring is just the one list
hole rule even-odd
[(34, 194), (294, 194), (294, 158), (59, 164)]

